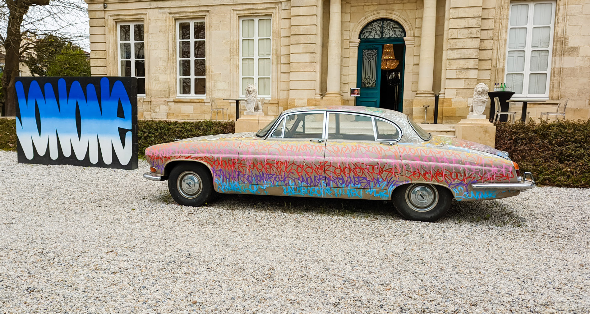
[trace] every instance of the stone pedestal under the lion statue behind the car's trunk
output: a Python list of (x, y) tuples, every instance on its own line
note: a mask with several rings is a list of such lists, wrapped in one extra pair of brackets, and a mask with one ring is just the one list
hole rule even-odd
[(455, 124), (455, 136), (461, 140), (473, 141), (494, 147), (496, 144), (496, 125), (490, 123), (484, 114), (471, 116), (483, 116), (483, 118), (461, 119), (459, 123)]

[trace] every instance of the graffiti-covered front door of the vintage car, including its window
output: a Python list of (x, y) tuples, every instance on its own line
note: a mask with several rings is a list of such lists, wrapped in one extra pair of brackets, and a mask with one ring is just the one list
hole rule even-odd
[(318, 187), (324, 184), (325, 113), (285, 115), (264, 140), (242, 142), (240, 183)]

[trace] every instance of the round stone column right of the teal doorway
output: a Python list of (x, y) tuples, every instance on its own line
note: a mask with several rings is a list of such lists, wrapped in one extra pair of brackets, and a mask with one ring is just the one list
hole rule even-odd
[(422, 9), (422, 35), (420, 39), (420, 64), (418, 69), (418, 92), (416, 93), (416, 98), (434, 97), (432, 79), (434, 74), (436, 18), (437, 1), (424, 0), (424, 9)]

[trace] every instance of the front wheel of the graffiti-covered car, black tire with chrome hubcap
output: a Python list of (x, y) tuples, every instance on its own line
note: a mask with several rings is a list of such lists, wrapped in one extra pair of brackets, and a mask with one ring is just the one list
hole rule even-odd
[(211, 172), (202, 164), (188, 162), (172, 168), (168, 176), (168, 190), (176, 203), (199, 207), (214, 194)]

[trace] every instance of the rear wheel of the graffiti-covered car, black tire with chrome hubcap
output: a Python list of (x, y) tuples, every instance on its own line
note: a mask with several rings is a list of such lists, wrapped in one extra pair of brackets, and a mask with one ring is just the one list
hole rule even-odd
[(411, 183), (396, 187), (391, 199), (395, 209), (405, 219), (435, 222), (447, 213), (453, 196), (442, 186)]

